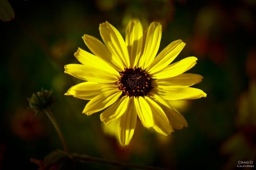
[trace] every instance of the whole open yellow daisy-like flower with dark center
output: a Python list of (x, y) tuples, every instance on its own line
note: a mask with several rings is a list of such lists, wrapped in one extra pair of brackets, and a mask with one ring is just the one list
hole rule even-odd
[(185, 43), (174, 41), (157, 55), (160, 23), (152, 22), (143, 33), (137, 19), (129, 22), (125, 41), (109, 22), (101, 23), (99, 31), (104, 44), (90, 35), (82, 37), (94, 55), (78, 48), (75, 57), (81, 64), (65, 65), (65, 73), (86, 81), (66, 93), (90, 100), (82, 113), (91, 115), (105, 109), (100, 119), (106, 125), (120, 118), (121, 145), (131, 141), (137, 116), (144, 127), (163, 135), (187, 127), (185, 118), (168, 101), (198, 99), (206, 93), (189, 87), (201, 82), (202, 76), (183, 74), (196, 64), (196, 57), (170, 64)]

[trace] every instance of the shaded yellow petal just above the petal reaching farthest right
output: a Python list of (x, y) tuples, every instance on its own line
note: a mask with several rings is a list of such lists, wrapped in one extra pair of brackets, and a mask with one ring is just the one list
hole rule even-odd
[(183, 73), (181, 75), (156, 80), (157, 85), (163, 86), (193, 86), (202, 81), (203, 77), (197, 74)]

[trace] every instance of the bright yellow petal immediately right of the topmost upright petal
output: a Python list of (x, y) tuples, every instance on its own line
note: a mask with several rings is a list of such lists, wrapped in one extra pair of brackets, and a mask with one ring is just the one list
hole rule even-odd
[(162, 36), (162, 26), (159, 22), (152, 22), (147, 30), (144, 51), (139, 61), (142, 69), (152, 63), (157, 55)]

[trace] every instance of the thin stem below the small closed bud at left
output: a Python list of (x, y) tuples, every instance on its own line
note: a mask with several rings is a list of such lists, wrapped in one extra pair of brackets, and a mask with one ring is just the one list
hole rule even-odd
[(64, 151), (65, 151), (65, 152), (69, 152), (69, 151), (68, 151), (67, 144), (66, 144), (66, 140), (65, 140), (65, 138), (64, 138), (64, 136), (63, 136), (63, 134), (62, 134), (62, 132), (61, 132), (61, 130), (60, 130), (60, 128), (59, 128), (59, 125), (58, 125), (58, 123), (57, 123), (57, 121), (56, 121), (54, 115), (52, 114), (51, 109), (47, 108), (47, 109), (45, 109), (45, 112), (46, 112), (47, 116), (49, 117), (49, 119), (51, 120), (51, 122), (52, 122), (52, 124), (53, 124), (55, 130), (57, 131), (57, 133), (58, 133), (58, 135), (59, 135), (59, 138), (60, 138), (61, 143), (62, 143), (62, 145), (63, 145)]

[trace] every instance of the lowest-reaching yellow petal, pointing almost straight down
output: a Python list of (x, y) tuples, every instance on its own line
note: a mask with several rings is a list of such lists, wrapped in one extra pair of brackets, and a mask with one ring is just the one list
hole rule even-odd
[(121, 116), (119, 128), (119, 141), (121, 145), (128, 145), (133, 137), (136, 123), (137, 112), (134, 105), (134, 97), (130, 98), (130, 104), (127, 111)]

